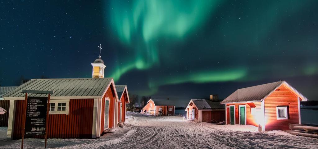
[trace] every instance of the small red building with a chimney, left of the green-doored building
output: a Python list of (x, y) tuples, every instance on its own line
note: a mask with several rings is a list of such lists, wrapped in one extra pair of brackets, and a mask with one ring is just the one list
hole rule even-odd
[[(214, 98), (213, 98), (214, 96)], [(210, 99), (191, 99), (185, 111), (187, 119), (211, 123), (211, 120), (225, 120), (225, 106), (220, 105), (217, 95)], [(216, 98), (215, 98), (216, 97)]]

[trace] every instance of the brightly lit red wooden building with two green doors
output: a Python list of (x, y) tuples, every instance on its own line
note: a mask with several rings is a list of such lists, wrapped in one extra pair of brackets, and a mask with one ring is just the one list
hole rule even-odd
[(286, 81), (238, 89), (225, 98), (226, 124), (249, 124), (262, 131), (288, 130), (301, 124), (300, 101), (308, 99)]

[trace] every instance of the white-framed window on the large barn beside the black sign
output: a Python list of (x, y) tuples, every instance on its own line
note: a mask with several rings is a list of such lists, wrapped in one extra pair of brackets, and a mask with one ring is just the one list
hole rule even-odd
[(68, 115), (69, 99), (50, 100), (49, 114)]

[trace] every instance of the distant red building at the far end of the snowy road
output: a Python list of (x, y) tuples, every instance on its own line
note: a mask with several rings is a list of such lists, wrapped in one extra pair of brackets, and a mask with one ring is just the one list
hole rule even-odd
[(149, 99), (147, 104), (142, 108), (142, 113), (154, 116), (174, 116), (175, 106), (168, 99)]

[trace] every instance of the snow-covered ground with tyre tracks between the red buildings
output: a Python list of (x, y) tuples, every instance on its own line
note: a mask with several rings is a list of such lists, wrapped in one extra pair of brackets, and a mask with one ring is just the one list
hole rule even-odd
[[(251, 125), (215, 125), (128, 113), (124, 128), (97, 139), (48, 139), (49, 148), (318, 148), (318, 139), (284, 131), (257, 132)], [(1, 131), (2, 130), (2, 131)], [(0, 129), (3, 137), (4, 129)], [(20, 148), (21, 140), (0, 148)], [(25, 139), (24, 148), (43, 148), (44, 139)]]

